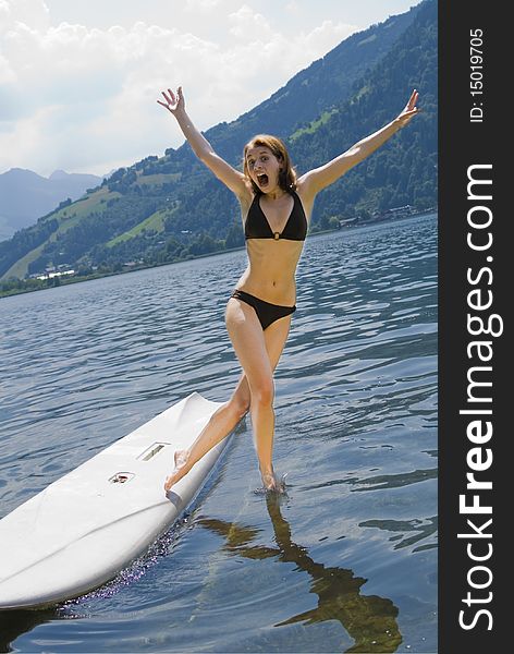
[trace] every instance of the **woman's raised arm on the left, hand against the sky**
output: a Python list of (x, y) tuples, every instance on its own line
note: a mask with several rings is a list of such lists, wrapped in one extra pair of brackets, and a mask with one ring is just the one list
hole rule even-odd
[(176, 118), (182, 133), (187, 138), (193, 152), (209, 168), (216, 177), (223, 182), (238, 198), (248, 194), (245, 177), (242, 172), (230, 166), (212, 149), (212, 146), (199, 130), (195, 128), (185, 110), (185, 99), (182, 86), (179, 86), (176, 95), (169, 88), (162, 92), (164, 101), (157, 100), (170, 113)]

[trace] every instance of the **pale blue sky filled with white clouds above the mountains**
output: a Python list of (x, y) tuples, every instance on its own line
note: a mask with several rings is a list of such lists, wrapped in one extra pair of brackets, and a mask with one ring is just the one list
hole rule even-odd
[(105, 174), (233, 120), (341, 40), (418, 0), (0, 0), (0, 173)]

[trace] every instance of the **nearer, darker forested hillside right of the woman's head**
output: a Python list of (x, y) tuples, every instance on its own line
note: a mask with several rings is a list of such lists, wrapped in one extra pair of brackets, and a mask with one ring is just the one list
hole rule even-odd
[(319, 196), (318, 219), (437, 204), (437, 5), (427, 2), (390, 52), (354, 85), (350, 101), (313, 133), (293, 136), (291, 152), (302, 168), (319, 166), (389, 122), (411, 90), (419, 90), (421, 114)]

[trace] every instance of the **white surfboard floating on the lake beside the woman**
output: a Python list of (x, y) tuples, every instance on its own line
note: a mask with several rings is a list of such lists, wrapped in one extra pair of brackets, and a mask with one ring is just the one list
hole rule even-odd
[(181, 516), (229, 438), (164, 494), (175, 450), (218, 402), (193, 393), (0, 520), (0, 609), (42, 607), (112, 579)]

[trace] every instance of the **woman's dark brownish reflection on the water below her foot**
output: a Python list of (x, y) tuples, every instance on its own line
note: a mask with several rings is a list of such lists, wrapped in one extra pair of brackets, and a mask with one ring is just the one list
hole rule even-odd
[(267, 506), (278, 547), (254, 545), (259, 530), (252, 526), (210, 518), (201, 518), (199, 523), (223, 536), (227, 540), (223, 549), (230, 554), (257, 560), (276, 557), (280, 561), (296, 564), (297, 569), (310, 574), (310, 589), (318, 595), (318, 606), (276, 627), (338, 620), (355, 641), (346, 653), (395, 652), (402, 635), (396, 622), (399, 611), (391, 600), (362, 595), (360, 586), (366, 579), (354, 577), (352, 570), (326, 567), (313, 560), (305, 547), (291, 540), (291, 528), (280, 512), (280, 500), (268, 496)]

